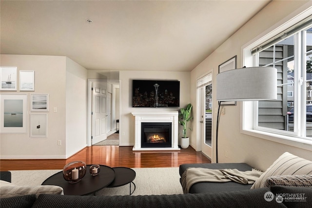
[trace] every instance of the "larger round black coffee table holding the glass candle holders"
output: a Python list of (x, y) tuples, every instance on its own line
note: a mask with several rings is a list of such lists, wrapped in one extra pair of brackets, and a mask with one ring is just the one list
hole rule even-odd
[(78, 183), (68, 183), (63, 178), (63, 171), (60, 171), (47, 178), (41, 185), (62, 187), (64, 195), (89, 195), (107, 187), (115, 179), (115, 171), (111, 167), (100, 165), (100, 172), (96, 176), (92, 176), (89, 169), (90, 165), (87, 165), (87, 172)]

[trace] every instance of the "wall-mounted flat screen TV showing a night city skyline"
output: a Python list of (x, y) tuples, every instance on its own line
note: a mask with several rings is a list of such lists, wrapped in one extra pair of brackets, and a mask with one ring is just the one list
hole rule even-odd
[(179, 107), (180, 81), (133, 80), (132, 107)]

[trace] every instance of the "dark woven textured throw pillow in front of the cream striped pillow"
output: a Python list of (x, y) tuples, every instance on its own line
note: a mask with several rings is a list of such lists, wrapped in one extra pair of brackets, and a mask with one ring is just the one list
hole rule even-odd
[(312, 175), (278, 175), (265, 180), (264, 187), (312, 187)]

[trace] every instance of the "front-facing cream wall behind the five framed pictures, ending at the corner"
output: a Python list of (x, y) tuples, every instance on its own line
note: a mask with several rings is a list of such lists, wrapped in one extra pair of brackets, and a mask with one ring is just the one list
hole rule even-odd
[[(66, 58), (56, 56), (25, 56), (1, 55), (1, 66), (16, 66), (19, 71), (35, 71), (35, 91), (17, 92), (1, 91), (1, 93), (25, 93), (27, 100), (27, 132), (1, 133), (1, 159), (36, 159), (36, 158), (65, 158), (65, 87), (66, 87)], [(48, 112), (30, 111), (30, 94), (49, 94)], [(58, 113), (53, 113), (53, 107)], [(46, 113), (48, 117), (47, 138), (30, 137), (30, 114)], [(61, 140), (62, 146), (58, 146)]]

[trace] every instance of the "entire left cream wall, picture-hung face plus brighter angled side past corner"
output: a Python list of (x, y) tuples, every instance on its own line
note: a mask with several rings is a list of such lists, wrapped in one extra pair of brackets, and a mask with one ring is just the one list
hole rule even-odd
[[(87, 70), (66, 57), (0, 55), (1, 66), (35, 71), (35, 91), (1, 91), (28, 95), (27, 132), (1, 133), (1, 159), (66, 159), (86, 145)], [(81, 94), (80, 94), (81, 93)], [(30, 111), (30, 94), (49, 94), (48, 112)], [(54, 107), (57, 112), (54, 112)], [(47, 138), (30, 137), (30, 114), (46, 113)], [(62, 145), (58, 145), (58, 140)]]

